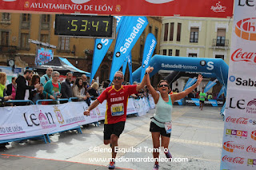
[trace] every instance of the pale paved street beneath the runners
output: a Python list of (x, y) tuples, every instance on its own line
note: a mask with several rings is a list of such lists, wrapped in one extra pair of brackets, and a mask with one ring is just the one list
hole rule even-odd
[[(174, 158), (188, 158), (188, 162), (162, 162), (159, 169), (219, 169), (222, 151), (223, 125), (221, 108), (174, 106), (173, 130), (170, 152)], [(150, 117), (154, 109), (142, 117), (129, 116), (125, 131), (119, 140), (119, 148), (138, 149), (137, 152), (119, 152), (118, 158), (152, 158), (149, 132)], [(9, 169), (107, 169), (109, 161), (91, 159), (110, 158), (109, 145), (104, 145), (103, 125), (82, 128), (50, 136), (51, 143), (42, 140), (12, 142), (0, 148), (1, 170)], [(100, 149), (104, 152), (100, 152)], [(165, 157), (163, 153), (161, 157)], [(152, 162), (117, 162), (116, 169), (152, 169)]]

